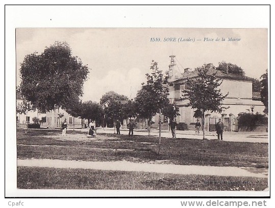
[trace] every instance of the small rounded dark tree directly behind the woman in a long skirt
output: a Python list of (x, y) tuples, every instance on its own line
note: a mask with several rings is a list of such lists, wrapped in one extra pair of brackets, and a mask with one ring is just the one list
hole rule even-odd
[(104, 112), (102, 106), (97, 102), (93, 102), (91, 100), (83, 102), (80, 109), (81, 111), (79, 116), (81, 118), (95, 120), (96, 123), (101, 122)]

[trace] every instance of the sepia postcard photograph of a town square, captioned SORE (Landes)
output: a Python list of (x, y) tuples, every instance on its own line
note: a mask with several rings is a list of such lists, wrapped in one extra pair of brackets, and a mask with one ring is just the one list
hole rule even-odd
[(17, 189), (262, 191), (266, 29), (17, 28)]

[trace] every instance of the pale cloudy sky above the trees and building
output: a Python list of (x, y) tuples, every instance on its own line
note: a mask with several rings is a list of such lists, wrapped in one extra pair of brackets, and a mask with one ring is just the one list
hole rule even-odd
[(34, 51), (42, 53), (55, 41), (66, 41), (72, 55), (89, 67), (83, 101), (98, 102), (111, 90), (135, 98), (141, 83), (146, 82), (152, 60), (167, 71), (170, 55), (176, 56), (181, 72), (187, 67), (194, 69), (204, 63), (218, 66), (226, 61), (240, 66), (246, 76), (259, 79), (268, 68), (267, 40), (267, 29), (19, 28), (16, 85), (24, 57)]

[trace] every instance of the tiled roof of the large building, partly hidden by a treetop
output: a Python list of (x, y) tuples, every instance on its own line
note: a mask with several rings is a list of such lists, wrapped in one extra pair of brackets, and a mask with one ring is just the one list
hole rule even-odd
[[(224, 71), (220, 71), (220, 70), (217, 70), (214, 68), (208, 68), (208, 72), (209, 72), (209, 74), (216, 73), (216, 77), (218, 77), (220, 79), (224, 78), (224, 79), (230, 79), (230, 80), (243, 80), (243, 81), (251, 81), (251, 82), (253, 81), (253, 78), (245, 76), (242, 73), (239, 73), (239, 74), (226, 73)], [(175, 80), (174, 82), (186, 80), (188, 78), (191, 79), (191, 78), (194, 78), (197, 76), (198, 76), (198, 70), (186, 71), (186, 72), (182, 73), (182, 77)]]

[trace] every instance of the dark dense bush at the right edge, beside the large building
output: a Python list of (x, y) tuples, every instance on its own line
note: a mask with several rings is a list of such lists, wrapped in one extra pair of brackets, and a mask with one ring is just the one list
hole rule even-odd
[(268, 118), (262, 114), (240, 113), (238, 114), (239, 128), (247, 128), (250, 131), (257, 125), (267, 125)]

